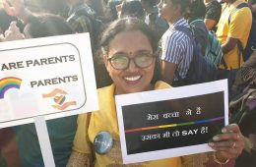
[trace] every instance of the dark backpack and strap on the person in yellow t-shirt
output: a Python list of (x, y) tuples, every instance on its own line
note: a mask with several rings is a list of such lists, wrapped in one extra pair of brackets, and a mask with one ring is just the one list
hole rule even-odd
[[(241, 3), (240, 5), (238, 5), (229, 15), (228, 24), (230, 24), (231, 18), (235, 14), (235, 12), (242, 8), (249, 8), (249, 6), (247, 3)], [(238, 48), (243, 55), (244, 61), (246, 61), (251, 56), (253, 50), (256, 49), (256, 22), (254, 20), (252, 20), (252, 27), (245, 48), (242, 47), (241, 41), (238, 41)]]

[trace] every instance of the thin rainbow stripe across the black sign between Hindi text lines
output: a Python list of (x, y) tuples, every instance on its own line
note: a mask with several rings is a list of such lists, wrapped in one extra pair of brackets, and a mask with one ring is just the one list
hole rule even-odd
[(224, 120), (224, 117), (218, 117), (218, 118), (209, 119), (209, 120), (191, 121), (191, 122), (180, 123), (180, 124), (169, 124), (169, 125), (162, 125), (162, 126), (155, 126), (155, 127), (137, 128), (132, 130), (126, 130), (125, 133), (134, 133), (134, 132), (147, 131), (147, 130), (156, 130), (160, 128), (172, 128), (172, 127), (181, 127), (181, 126), (196, 125), (196, 124), (203, 124), (203, 123), (211, 123), (211, 122), (220, 121), (220, 120)]

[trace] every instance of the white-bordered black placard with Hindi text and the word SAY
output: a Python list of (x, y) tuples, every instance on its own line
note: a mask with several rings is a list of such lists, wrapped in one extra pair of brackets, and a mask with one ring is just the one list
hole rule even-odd
[(212, 151), (228, 124), (227, 81), (116, 95), (123, 163)]

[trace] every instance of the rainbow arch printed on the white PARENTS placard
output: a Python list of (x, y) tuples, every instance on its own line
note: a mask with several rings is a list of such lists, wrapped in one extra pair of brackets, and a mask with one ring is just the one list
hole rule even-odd
[(5, 92), (10, 88), (20, 89), (22, 79), (15, 77), (3, 78), (0, 80), (0, 99), (4, 98)]

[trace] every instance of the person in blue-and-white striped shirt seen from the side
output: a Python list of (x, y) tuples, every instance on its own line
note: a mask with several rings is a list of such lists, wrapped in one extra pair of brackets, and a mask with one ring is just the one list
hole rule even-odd
[(161, 77), (171, 85), (182, 85), (193, 56), (193, 44), (189, 36), (176, 27), (189, 28), (184, 19), (189, 0), (161, 0), (160, 18), (169, 28), (161, 37)]

